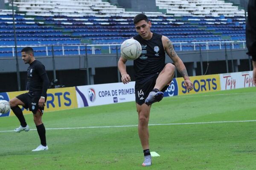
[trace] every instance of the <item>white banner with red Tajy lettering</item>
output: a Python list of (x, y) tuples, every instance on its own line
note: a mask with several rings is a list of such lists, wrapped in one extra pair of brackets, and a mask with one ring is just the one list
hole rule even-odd
[(253, 87), (253, 71), (220, 74), (221, 90)]

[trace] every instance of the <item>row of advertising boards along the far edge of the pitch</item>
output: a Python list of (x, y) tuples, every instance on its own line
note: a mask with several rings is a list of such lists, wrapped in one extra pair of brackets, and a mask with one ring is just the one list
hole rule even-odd
[[(190, 77), (194, 89), (188, 91), (184, 86), (183, 78), (174, 78), (164, 96), (180, 96), (199, 94), (211, 91), (230, 90), (236, 88), (249, 88), (253, 85), (253, 71), (236, 72), (228, 74), (212, 74)], [(70, 88), (48, 89), (45, 111), (60, 111), (88, 106), (106, 105), (120, 102), (135, 101), (135, 82), (128, 84), (109, 83), (99, 85), (83, 85)], [(0, 93), (0, 99), (9, 101), (13, 97), (26, 91)], [(22, 108), (24, 114), (30, 113)], [(1, 116), (13, 116), (14, 113), (1, 114)]]

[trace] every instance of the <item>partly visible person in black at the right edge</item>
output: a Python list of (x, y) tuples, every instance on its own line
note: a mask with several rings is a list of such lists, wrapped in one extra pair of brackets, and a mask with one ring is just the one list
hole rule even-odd
[(256, 0), (249, 0), (246, 23), (246, 45), (253, 59), (253, 84), (256, 85)]

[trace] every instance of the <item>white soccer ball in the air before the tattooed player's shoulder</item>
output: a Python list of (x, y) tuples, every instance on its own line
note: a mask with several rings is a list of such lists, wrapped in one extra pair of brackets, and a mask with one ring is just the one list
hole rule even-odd
[(121, 56), (128, 60), (134, 60), (140, 57), (140, 42), (134, 39), (125, 40), (121, 45)]

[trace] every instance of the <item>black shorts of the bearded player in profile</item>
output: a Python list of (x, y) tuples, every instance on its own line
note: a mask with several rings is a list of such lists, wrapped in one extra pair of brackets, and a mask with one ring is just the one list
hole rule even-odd
[[(21, 102), (25, 104), (24, 108), (29, 108), (29, 111), (32, 111), (33, 114), (35, 114), (38, 110), (41, 111), (41, 113), (44, 113), (44, 107), (40, 108), (38, 106), (39, 99), (41, 98), (41, 93), (24, 93), (20, 94), (19, 96), (16, 96)], [(46, 101), (46, 98), (45, 98)]]

